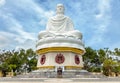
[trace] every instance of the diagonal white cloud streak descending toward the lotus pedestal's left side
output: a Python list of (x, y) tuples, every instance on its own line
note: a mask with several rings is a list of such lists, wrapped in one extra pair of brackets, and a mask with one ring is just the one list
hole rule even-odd
[(30, 33), (30, 32), (26, 32), (24, 30), (24, 27), (12, 16), (9, 15), (3, 15), (2, 17), (4, 17), (4, 20), (6, 20), (6, 22), (9, 25), (8, 30), (12, 31), (13, 33), (15, 33), (16, 35), (21, 36), (24, 39), (31, 39), (34, 40), (34, 33)]

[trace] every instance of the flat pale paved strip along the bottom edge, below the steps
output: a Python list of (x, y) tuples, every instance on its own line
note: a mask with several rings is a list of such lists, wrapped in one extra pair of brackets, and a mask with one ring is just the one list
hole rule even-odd
[(120, 83), (120, 78), (0, 78), (0, 83)]

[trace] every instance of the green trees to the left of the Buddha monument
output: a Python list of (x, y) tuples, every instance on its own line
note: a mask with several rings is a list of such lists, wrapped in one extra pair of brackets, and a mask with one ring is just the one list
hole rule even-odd
[(0, 53), (0, 70), (5, 74), (13, 71), (14, 74), (36, 69), (37, 55), (32, 49), (20, 49), (19, 51), (2, 51)]

